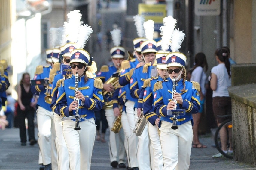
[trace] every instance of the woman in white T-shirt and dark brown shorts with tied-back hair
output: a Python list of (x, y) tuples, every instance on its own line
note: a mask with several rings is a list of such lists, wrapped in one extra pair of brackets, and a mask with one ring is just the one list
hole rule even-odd
[[(231, 98), (228, 94), (228, 87), (231, 86), (230, 62), (228, 59), (228, 51), (225, 48), (218, 48), (215, 51), (217, 66), (211, 70), (211, 89), (212, 107), (218, 126), (227, 118), (220, 118), (218, 115), (231, 114)], [(224, 128), (220, 131), (221, 149), (223, 152), (233, 153), (232, 139), (230, 139), (230, 147), (227, 150), (227, 131)], [(213, 158), (224, 157), (221, 153), (212, 156)]]

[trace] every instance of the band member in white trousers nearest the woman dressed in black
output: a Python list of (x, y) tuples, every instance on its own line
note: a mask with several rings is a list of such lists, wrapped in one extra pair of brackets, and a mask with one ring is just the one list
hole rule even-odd
[[(53, 49), (46, 50), (47, 54), (47, 63), (49, 66), (37, 66), (35, 71), (34, 80), (40, 79), (48, 79), (50, 75), (50, 70), (53, 67), (52, 61), (52, 53)], [(38, 98), (38, 109), (36, 111), (37, 116), (37, 125), (38, 125), (38, 145), (40, 148), (39, 153), (39, 164), (41, 164), (41, 160), (44, 169), (54, 169), (57, 170), (57, 151), (54, 139), (56, 137), (55, 128), (54, 128), (54, 118), (53, 112), (50, 109), (50, 104), (46, 103), (44, 100), (47, 95), (47, 90), (51, 88), (51, 85), (36, 85), (31, 87), (32, 93), (35, 95), (39, 95)]]

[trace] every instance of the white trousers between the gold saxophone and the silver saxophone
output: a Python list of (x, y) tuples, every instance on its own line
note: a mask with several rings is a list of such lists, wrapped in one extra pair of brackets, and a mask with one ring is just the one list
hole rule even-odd
[[(123, 111), (121, 116), (121, 123), (124, 132), (124, 148), (126, 150), (128, 166), (129, 167), (138, 167), (138, 161), (136, 156), (136, 148), (138, 145), (138, 137), (131, 131), (128, 118), (125, 111)], [(129, 139), (129, 141), (128, 141)]]

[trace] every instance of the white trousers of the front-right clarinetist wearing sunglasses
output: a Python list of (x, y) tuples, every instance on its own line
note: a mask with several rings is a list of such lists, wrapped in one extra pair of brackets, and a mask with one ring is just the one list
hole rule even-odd
[(172, 123), (161, 121), (160, 141), (163, 151), (164, 170), (186, 170), (190, 165), (193, 130), (191, 121), (171, 129)]

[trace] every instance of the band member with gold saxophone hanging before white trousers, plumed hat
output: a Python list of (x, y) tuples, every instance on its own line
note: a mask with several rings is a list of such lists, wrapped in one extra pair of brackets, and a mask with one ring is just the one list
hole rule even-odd
[[(100, 69), (100, 72), (96, 75), (97, 78), (102, 79), (104, 82), (103, 89), (110, 93), (115, 91), (114, 86), (110, 83), (105, 83), (115, 72), (120, 72), (121, 62), (124, 60), (125, 49), (120, 47), (121, 44), (121, 31), (119, 29), (114, 29), (111, 31), (112, 39), (114, 42), (114, 47), (110, 49), (112, 62), (114, 66), (106, 66), (103, 65)], [(112, 98), (111, 96), (104, 96), (105, 102), (105, 115), (108, 121), (108, 126), (111, 129), (113, 126), (113, 122), (115, 117), (120, 115), (120, 110), (117, 105), (113, 105), (117, 103), (117, 98)], [(106, 105), (106, 103), (108, 103)], [(120, 168), (126, 168), (126, 157), (125, 157), (125, 149), (123, 145), (124, 141), (123, 130), (121, 129), (119, 133), (114, 133), (110, 131), (109, 135), (109, 156), (110, 156), (110, 165), (113, 168), (117, 166)], [(117, 142), (119, 140), (119, 142)], [(116, 144), (119, 143), (120, 146)], [(119, 151), (118, 151), (119, 150)], [(118, 160), (119, 157), (119, 160)]]

